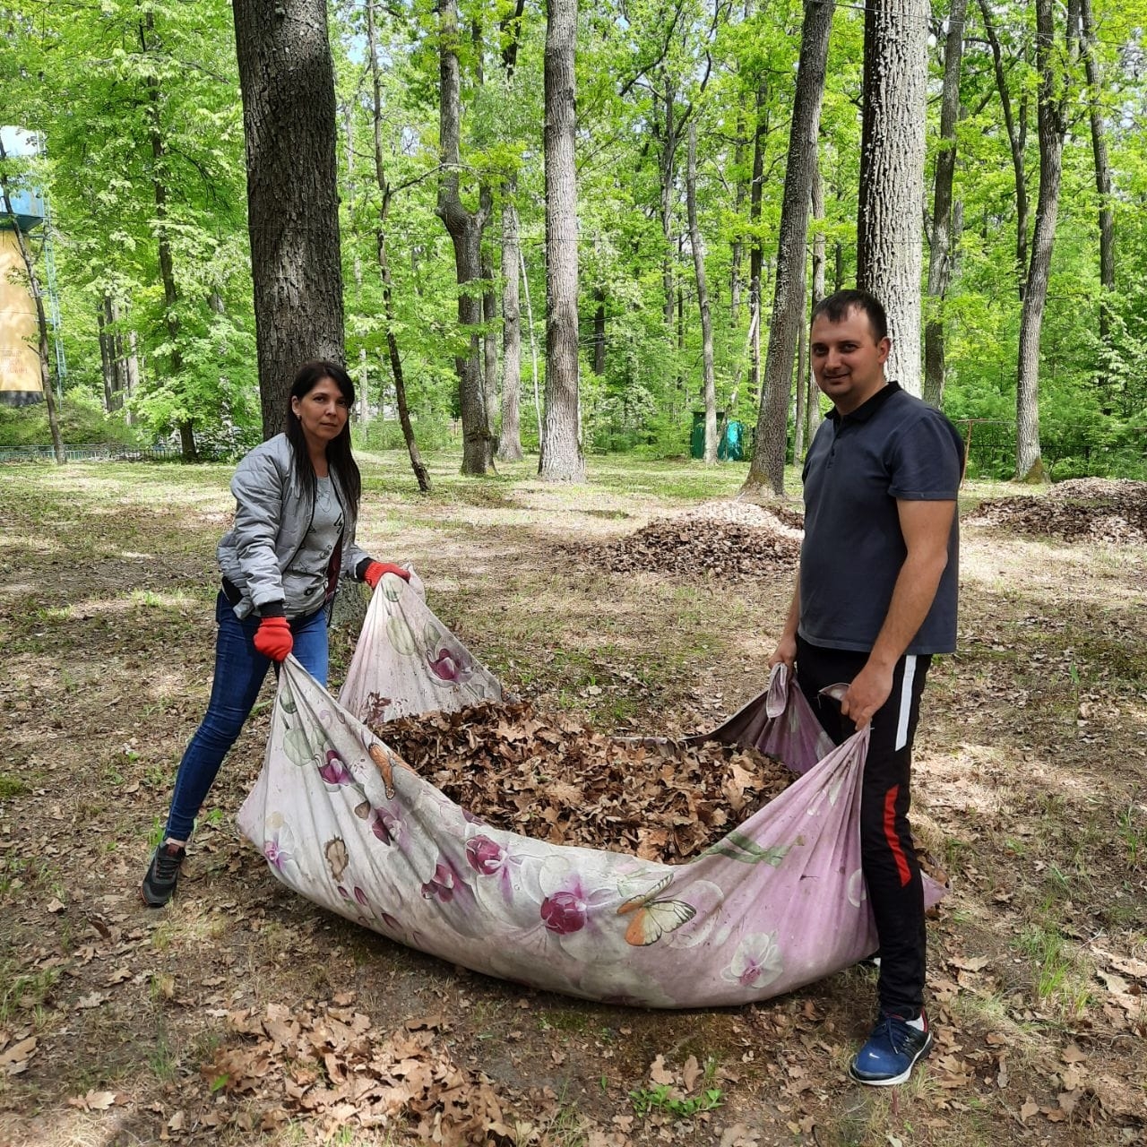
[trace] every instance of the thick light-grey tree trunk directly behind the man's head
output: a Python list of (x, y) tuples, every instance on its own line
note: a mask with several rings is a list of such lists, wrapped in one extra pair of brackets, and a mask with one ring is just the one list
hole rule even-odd
[(888, 375), (920, 395), (927, 0), (868, 0), (857, 213), (857, 286), (888, 311)]

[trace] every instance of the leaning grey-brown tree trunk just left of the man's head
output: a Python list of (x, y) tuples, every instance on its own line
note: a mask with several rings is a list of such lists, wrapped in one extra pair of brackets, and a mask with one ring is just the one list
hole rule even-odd
[(785, 194), (781, 201), (768, 354), (765, 359), (765, 380), (757, 415), (756, 448), (749, 475), (744, 479), (747, 490), (759, 489), (767, 481), (775, 494), (785, 493), (793, 356), (798, 333), (804, 325), (805, 239), (809, 234), (809, 202), (817, 165), (820, 104), (825, 94), (825, 67), (832, 24), (832, 5), (821, 0), (809, 0), (805, 3), (793, 124), (789, 128), (788, 163), (785, 169)]

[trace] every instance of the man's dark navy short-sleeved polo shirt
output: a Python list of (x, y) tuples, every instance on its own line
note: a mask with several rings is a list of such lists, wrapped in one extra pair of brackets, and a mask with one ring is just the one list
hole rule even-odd
[[(955, 501), (963, 440), (939, 411), (890, 382), (850, 414), (833, 409), (804, 462), (801, 623), (805, 641), (867, 653), (907, 556), (897, 499)], [(933, 607), (906, 653), (955, 648), (959, 525)]]

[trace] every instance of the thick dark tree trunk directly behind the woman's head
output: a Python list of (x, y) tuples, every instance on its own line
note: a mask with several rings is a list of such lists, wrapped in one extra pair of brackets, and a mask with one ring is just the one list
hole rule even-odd
[(326, 0), (233, 0), (263, 435), (309, 359), (343, 362), (335, 77)]

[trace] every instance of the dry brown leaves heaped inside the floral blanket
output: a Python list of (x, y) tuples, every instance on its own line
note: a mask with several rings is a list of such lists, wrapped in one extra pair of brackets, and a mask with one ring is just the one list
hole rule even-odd
[(524, 702), (405, 717), (376, 732), (497, 828), (670, 864), (716, 844), (795, 779), (756, 749), (609, 738)]

